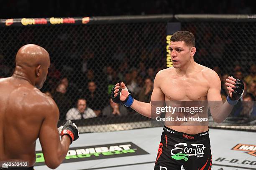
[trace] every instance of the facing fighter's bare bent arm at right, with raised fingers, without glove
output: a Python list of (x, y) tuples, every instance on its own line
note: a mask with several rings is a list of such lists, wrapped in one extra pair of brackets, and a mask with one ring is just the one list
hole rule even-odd
[(210, 82), (209, 83), (209, 89), (207, 93), (207, 100), (210, 107), (210, 112), (212, 114), (212, 118), (215, 122), (221, 123), (223, 120), (225, 120), (230, 112), (233, 109), (234, 103), (237, 99), (233, 99), (232, 92), (234, 91), (236, 79), (233, 77), (228, 77), (226, 80), (226, 86), (229, 90), (228, 94), (228, 100), (224, 103), (222, 102), (221, 96), (220, 96), (220, 88), (221, 88), (221, 82), (218, 74), (215, 71), (209, 71), (207, 74), (207, 79)]

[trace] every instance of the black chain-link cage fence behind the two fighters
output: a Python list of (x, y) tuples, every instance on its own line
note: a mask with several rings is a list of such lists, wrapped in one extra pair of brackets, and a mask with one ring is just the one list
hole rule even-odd
[[(0, 77), (13, 74), (15, 54), (21, 46), (37, 44), (50, 54), (51, 66), (41, 91), (58, 105), (59, 124), (72, 119), (80, 132), (151, 127), (149, 118), (113, 104), (110, 92), (117, 82), (123, 81), (135, 99), (150, 101), (154, 77), (159, 70), (166, 69), (166, 27), (174, 18), (115, 18), (118, 20), (95, 17), (95, 24), (86, 25), (29, 25), (28, 20), (26, 26), (0, 27)], [(227, 75), (243, 79), (254, 101), (256, 23), (178, 20), (182, 30), (195, 35), (195, 61), (214, 69), (221, 80)], [(8, 25), (6, 21), (1, 20)], [(222, 86), (225, 100), (227, 94)], [(251, 124), (242, 127), (233, 123), (228, 124), (232, 127), (224, 127), (255, 130)], [(213, 122), (210, 125), (224, 128)]]

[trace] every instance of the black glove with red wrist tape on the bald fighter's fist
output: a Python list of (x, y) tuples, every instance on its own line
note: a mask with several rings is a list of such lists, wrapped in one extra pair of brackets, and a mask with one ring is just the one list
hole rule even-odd
[[(59, 128), (58, 130), (60, 130)], [(77, 125), (72, 123), (71, 120), (67, 120), (67, 122), (63, 124), (60, 135), (63, 136), (65, 134), (69, 135), (71, 143), (74, 140), (77, 140), (79, 137), (79, 131), (77, 129)]]

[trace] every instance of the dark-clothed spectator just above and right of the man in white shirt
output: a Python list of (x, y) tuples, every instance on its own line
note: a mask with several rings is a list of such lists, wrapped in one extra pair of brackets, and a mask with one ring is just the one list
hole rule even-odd
[(93, 109), (97, 116), (101, 114), (102, 106), (105, 104), (105, 96), (105, 91), (99, 92), (94, 81), (88, 83), (88, 91), (86, 94), (87, 104), (88, 107)]

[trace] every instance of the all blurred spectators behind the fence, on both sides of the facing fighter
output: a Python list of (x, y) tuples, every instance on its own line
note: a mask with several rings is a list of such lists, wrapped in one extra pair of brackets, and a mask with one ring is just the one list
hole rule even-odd
[[(120, 57), (124, 54), (118, 53), (115, 55)], [(144, 57), (143, 51), (141, 55)], [(122, 104), (115, 104), (110, 98), (113, 86), (122, 81), (125, 82), (135, 99), (150, 102), (154, 77), (164, 67), (148, 67), (142, 61), (137, 64), (128, 63), (128, 60), (124, 57), (124, 61), (121, 61), (119, 65), (107, 65), (103, 68), (97, 68), (92, 65), (93, 61), (91, 60), (93, 60), (93, 57), (90, 58), (91, 56), (91, 53), (87, 53), (87, 60), (79, 68), (80, 72), (76, 73), (76, 77), (56, 69), (56, 64), (51, 63), (42, 91), (56, 102), (60, 111), (60, 119), (87, 119), (134, 114), (135, 112), (132, 109), (126, 108)], [(88, 67), (87, 64), (91, 67)], [(240, 65), (234, 66), (232, 74), (223, 72), (219, 66), (214, 66), (212, 69), (220, 77), (223, 101), (226, 100), (228, 95), (228, 90), (225, 86), (225, 80), (228, 76), (234, 76), (244, 82), (245, 92), (241, 100), (255, 101), (255, 64), (250, 66), (247, 73), (242, 72)], [(10, 76), (10, 70), (8, 66), (1, 65), (0, 77)]]

